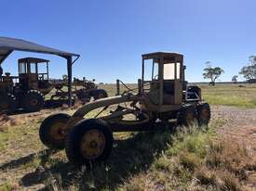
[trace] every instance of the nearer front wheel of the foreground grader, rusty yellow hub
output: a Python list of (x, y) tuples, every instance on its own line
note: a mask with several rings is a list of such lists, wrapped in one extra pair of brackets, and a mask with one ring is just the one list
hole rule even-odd
[(92, 164), (107, 159), (113, 147), (113, 134), (104, 121), (83, 120), (74, 125), (66, 137), (66, 155), (74, 166)]

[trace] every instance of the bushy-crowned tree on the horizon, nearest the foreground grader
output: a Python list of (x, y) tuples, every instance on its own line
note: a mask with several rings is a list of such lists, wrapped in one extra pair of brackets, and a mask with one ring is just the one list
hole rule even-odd
[(207, 68), (204, 69), (204, 79), (210, 79), (210, 84), (215, 85), (215, 81), (222, 75), (224, 70), (220, 67), (211, 67), (210, 62), (206, 62)]

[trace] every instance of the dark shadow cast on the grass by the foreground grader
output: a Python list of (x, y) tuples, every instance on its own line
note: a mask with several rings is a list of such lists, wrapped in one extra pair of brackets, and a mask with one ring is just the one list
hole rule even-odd
[(75, 185), (78, 190), (114, 190), (128, 177), (146, 171), (161, 151), (171, 143), (171, 133), (173, 130), (165, 128), (165, 131), (139, 133), (126, 140), (115, 140), (110, 158), (105, 164), (93, 167), (90, 172), (74, 169), (69, 162), (58, 160), (50, 168), (24, 175), (21, 183), (24, 186), (43, 182), (49, 184), (52, 177), (56, 177), (54, 182), (61, 189)]

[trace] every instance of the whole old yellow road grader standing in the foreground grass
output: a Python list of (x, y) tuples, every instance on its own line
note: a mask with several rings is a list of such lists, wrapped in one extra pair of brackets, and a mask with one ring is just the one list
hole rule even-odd
[[(142, 78), (136, 91), (129, 89), (120, 95), (117, 80), (116, 96), (88, 103), (73, 116), (58, 113), (47, 117), (40, 127), (40, 139), (48, 147), (65, 148), (68, 159), (79, 166), (107, 159), (115, 132), (153, 130), (159, 128), (155, 125), (158, 121), (208, 125), (209, 104), (201, 100), (199, 87), (184, 81), (184, 70), (180, 54), (142, 55)], [(94, 118), (86, 118), (88, 112), (98, 108), (102, 109)], [(110, 112), (106, 108), (111, 108)]]

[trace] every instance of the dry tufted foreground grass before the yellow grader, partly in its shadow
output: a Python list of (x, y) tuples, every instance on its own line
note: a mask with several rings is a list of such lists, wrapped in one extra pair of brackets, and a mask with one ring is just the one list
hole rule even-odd
[[(22, 126), (27, 125), (26, 122), (20, 128), (14, 126), (7, 130), (8, 139), (3, 142), (8, 144), (2, 150), (8, 158), (17, 159), (24, 155), (31, 142), (34, 144), (30, 145), (29, 152), (44, 148), (35, 136), (41, 117), (34, 116), (34, 126), (29, 127), (30, 131)], [(4, 179), (0, 176), (0, 190), (20, 190), (27, 186), (35, 186), (34, 189), (46, 186), (50, 190), (102, 191), (245, 190), (250, 172), (256, 170), (255, 156), (246, 145), (216, 138), (214, 129), (222, 122), (213, 121), (209, 130), (203, 132), (187, 129), (170, 134), (165, 129), (155, 133), (115, 134), (112, 156), (106, 164), (95, 167), (91, 172), (75, 170), (66, 163), (63, 151), (35, 153), (4, 169), (6, 175)], [(17, 134), (22, 135), (18, 137)], [(19, 150), (12, 152), (9, 146), (17, 143)], [(20, 155), (20, 151), (23, 154)], [(20, 175), (12, 179), (14, 173), (25, 175), (20, 181)]]

